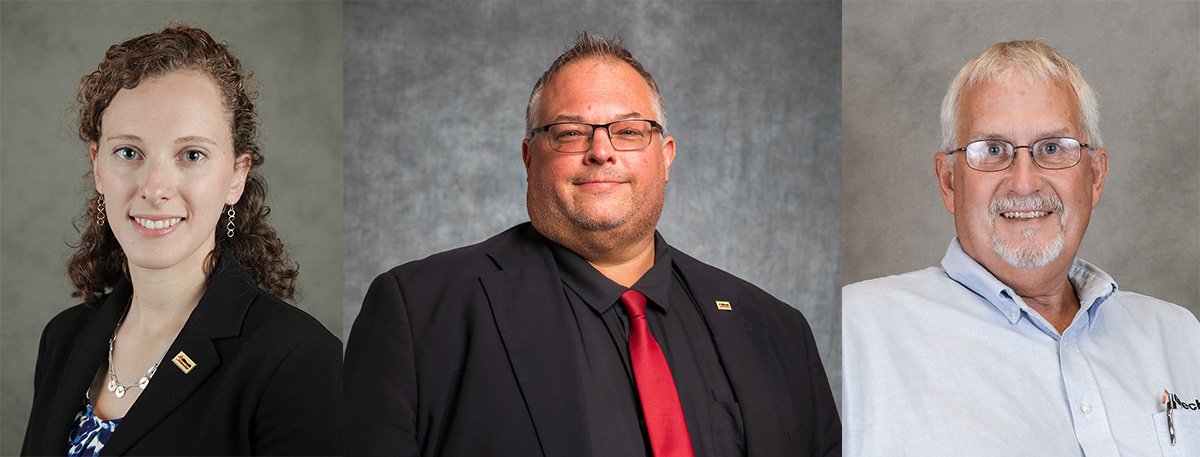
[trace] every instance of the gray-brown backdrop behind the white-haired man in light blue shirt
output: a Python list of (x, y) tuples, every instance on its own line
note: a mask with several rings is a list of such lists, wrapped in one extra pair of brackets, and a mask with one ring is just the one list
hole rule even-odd
[(1200, 314), (1200, 2), (852, 1), (842, 38), (842, 283), (941, 261), (946, 88), (988, 46), (1044, 38), (1098, 92), (1109, 150), (1079, 257)]

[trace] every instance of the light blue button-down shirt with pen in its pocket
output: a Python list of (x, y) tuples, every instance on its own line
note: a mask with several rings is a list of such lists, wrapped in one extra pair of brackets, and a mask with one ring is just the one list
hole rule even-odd
[(1075, 259), (1062, 336), (955, 239), (842, 289), (846, 456), (1200, 456), (1200, 323)]

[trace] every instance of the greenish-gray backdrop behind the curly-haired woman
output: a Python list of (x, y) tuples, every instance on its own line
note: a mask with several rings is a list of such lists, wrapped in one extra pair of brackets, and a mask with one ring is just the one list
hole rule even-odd
[(341, 2), (0, 2), (0, 455), (20, 450), (42, 327), (79, 302), (64, 266), (90, 162), (65, 110), (110, 44), (173, 18), (228, 41), (258, 77), (268, 203), (300, 264), (298, 305), (341, 332)]

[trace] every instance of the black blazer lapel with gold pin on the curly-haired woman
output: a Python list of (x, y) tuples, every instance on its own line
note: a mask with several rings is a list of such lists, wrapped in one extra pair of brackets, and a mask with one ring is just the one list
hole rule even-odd
[[(250, 275), (233, 261), (233, 254), (226, 249), (212, 272), (208, 290), (167, 349), (150, 385), (104, 445), (106, 455), (128, 451), (200, 389), (221, 366), (221, 356), (214, 341), (239, 335), (241, 323), (257, 294)], [(186, 361), (181, 360), (180, 365), (191, 366), (186, 373), (175, 363), (180, 353), (186, 355)]]

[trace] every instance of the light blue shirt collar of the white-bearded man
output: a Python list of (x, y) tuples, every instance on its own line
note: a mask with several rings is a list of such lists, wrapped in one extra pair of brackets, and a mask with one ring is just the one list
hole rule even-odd
[[(954, 281), (988, 300), (1012, 324), (1021, 319), (1021, 311), (1032, 312), (1016, 293), (1000, 282), (988, 269), (962, 251), (962, 245), (955, 237), (942, 258), (942, 269)], [(1067, 281), (1075, 288), (1080, 309), (1087, 313), (1088, 325), (1096, 318), (1096, 309), (1117, 291), (1117, 283), (1111, 276), (1082, 259), (1075, 258), (1067, 273)]]

